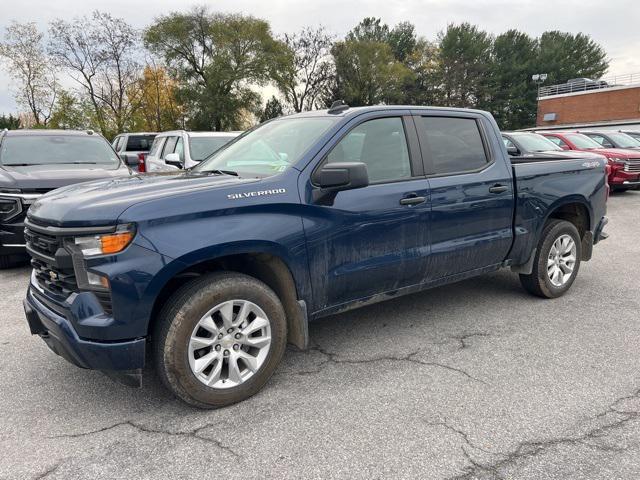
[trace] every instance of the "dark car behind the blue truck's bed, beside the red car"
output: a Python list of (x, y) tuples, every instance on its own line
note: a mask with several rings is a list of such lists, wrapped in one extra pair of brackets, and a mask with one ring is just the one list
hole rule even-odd
[(554, 142), (538, 133), (530, 132), (502, 132), (502, 141), (511, 157), (536, 157), (549, 159), (605, 160), (603, 155), (592, 152), (565, 152)]

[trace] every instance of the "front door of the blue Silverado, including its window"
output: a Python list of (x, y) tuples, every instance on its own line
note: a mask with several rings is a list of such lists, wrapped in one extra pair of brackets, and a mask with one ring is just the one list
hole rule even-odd
[[(404, 115), (403, 115), (404, 112)], [(303, 224), (313, 311), (419, 283), (429, 255), (429, 189), (408, 111), (354, 120), (325, 162), (364, 162), (369, 186), (314, 204), (308, 177)], [(309, 167), (310, 168), (310, 167)]]

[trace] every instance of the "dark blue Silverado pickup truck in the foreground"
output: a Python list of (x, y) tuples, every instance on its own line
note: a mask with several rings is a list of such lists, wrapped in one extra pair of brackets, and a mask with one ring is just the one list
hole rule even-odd
[(28, 212), (31, 332), (200, 407), (259, 391), (307, 322), (504, 267), (553, 298), (606, 237), (601, 159), (510, 160), (482, 111), (335, 105), (197, 167), (61, 188)]

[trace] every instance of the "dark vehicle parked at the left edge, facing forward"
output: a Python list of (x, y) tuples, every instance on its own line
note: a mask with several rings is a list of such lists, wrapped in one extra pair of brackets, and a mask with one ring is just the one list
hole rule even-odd
[(72, 183), (129, 177), (109, 142), (91, 131), (0, 133), (0, 268), (26, 258), (24, 219), (42, 194)]

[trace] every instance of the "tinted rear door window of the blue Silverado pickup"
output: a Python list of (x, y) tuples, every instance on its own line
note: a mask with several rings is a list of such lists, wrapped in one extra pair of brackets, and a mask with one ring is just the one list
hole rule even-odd
[(426, 153), (433, 162), (435, 174), (467, 172), (487, 165), (489, 160), (475, 119), (421, 118), (422, 125), (418, 128), (422, 129)]

